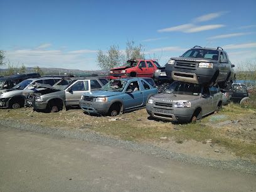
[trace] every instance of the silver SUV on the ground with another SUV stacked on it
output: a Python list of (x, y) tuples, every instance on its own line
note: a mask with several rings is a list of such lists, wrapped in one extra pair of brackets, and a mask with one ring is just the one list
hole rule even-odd
[(156, 119), (173, 122), (196, 122), (220, 110), (222, 93), (218, 85), (208, 86), (173, 82), (164, 93), (149, 98), (147, 113)]

